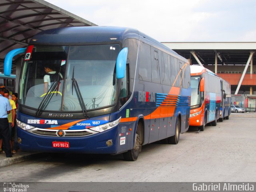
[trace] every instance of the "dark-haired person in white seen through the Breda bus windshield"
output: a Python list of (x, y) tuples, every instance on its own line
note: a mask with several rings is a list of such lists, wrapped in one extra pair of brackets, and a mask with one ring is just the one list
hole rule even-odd
[(48, 91), (48, 89), (51, 86), (51, 82), (54, 82), (54, 80), (60, 80), (63, 79), (63, 76), (61, 73), (56, 73), (56, 70), (52, 67), (51, 64), (45, 64), (44, 71), (46, 72), (46, 75), (44, 75), (44, 93)]

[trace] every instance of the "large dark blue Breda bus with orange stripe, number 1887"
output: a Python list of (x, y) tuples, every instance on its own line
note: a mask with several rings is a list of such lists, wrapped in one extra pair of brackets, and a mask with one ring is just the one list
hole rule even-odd
[[(44, 66), (58, 80), (44, 92)], [(26, 151), (124, 154), (177, 144), (190, 114), (187, 60), (146, 34), (120, 27), (40, 32), (24, 55), (18, 142)]]

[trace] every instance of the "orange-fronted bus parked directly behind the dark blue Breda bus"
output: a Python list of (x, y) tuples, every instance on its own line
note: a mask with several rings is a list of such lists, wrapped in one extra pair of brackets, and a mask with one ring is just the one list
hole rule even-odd
[(221, 109), (221, 78), (202, 67), (190, 66), (191, 108), (190, 126), (204, 131), (206, 124), (217, 125)]

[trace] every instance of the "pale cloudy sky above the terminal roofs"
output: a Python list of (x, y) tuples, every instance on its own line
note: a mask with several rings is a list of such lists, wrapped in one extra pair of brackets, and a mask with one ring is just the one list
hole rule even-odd
[(256, 42), (256, 0), (46, 0), (99, 26), (160, 42)]

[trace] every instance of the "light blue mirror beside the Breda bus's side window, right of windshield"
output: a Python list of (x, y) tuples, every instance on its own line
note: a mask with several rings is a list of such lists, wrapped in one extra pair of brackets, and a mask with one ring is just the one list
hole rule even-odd
[(125, 68), (127, 61), (128, 48), (123, 48), (116, 59), (116, 78), (122, 79), (125, 76)]

